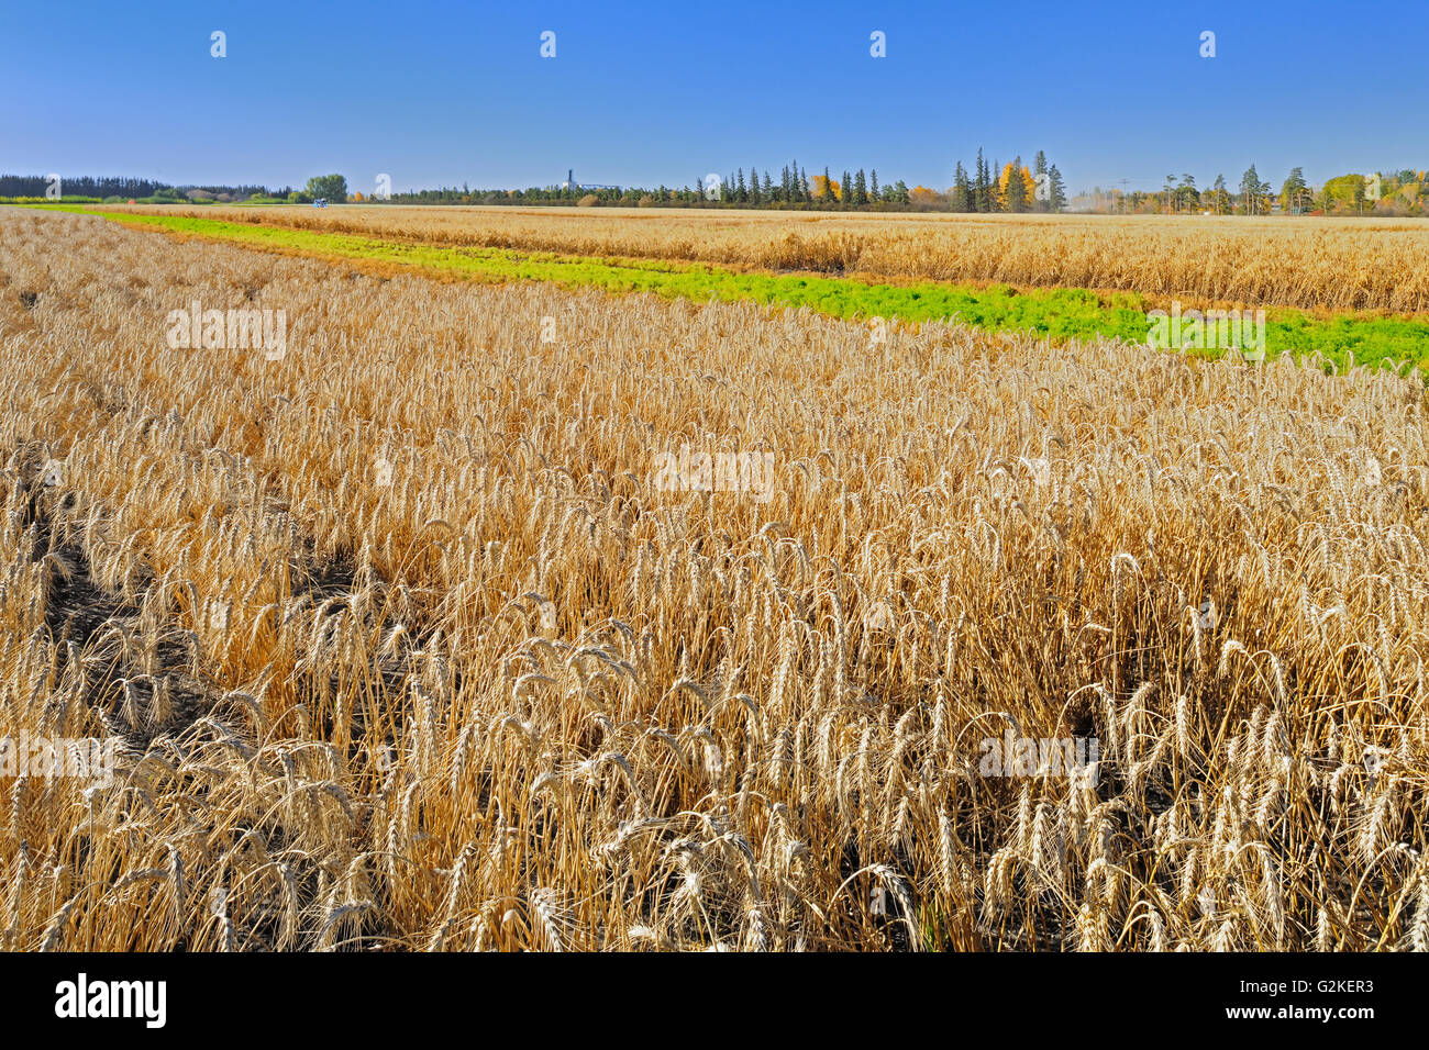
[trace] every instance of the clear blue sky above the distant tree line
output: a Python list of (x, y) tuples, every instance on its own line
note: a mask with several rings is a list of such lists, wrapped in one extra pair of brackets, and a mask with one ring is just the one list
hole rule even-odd
[[(1418, 3), (1418, 0), (1416, 0)], [(1253, 9), (1253, 10), (1252, 10)], [(1366, 11), (1369, 9), (1365, 9)], [(1075, 193), (1429, 167), (1416, 4), (630, 0), (13, 4), (0, 171), (353, 189), (693, 184), (797, 159), (946, 187), (1046, 150)], [(227, 57), (210, 56), (210, 33)], [(556, 57), (540, 57), (540, 33)], [(869, 54), (886, 34), (887, 56)], [(1216, 33), (1216, 57), (1199, 56)]]

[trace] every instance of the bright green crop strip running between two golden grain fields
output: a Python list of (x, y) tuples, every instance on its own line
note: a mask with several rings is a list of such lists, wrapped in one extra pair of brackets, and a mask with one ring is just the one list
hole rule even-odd
[[(412, 266), (484, 281), (539, 280), (563, 287), (597, 287), (612, 293), (652, 291), (670, 299), (810, 307), (843, 319), (885, 317), (890, 321), (956, 319), (989, 331), (1030, 331), (1050, 340), (1107, 336), (1147, 340), (1147, 306), (1137, 293), (1100, 297), (1085, 289), (975, 287), (925, 281), (872, 284), (850, 277), (740, 273), (703, 263), (563, 256), (509, 249), (442, 247), (340, 233), (231, 223), (184, 216), (104, 211), (83, 204), (41, 204), (54, 211), (91, 214), (131, 226), (211, 237), (259, 249)], [(1413, 363), (1429, 370), (1429, 320), (1338, 314), (1319, 319), (1299, 310), (1266, 310), (1266, 354), (1296, 357), (1319, 353), (1338, 366)], [(1196, 350), (1210, 357), (1220, 350)]]

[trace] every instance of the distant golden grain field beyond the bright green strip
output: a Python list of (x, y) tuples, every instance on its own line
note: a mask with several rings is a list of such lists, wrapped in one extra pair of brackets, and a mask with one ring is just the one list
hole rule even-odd
[(1187, 303), (1429, 311), (1429, 224), (1412, 220), (396, 206), (114, 210), (450, 246), (1142, 291)]

